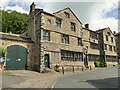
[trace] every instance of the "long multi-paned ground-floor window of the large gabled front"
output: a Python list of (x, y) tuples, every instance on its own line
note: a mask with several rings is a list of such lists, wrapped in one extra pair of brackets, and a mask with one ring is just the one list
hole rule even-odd
[(83, 54), (82, 52), (72, 52), (61, 50), (61, 60), (64, 61), (82, 61)]

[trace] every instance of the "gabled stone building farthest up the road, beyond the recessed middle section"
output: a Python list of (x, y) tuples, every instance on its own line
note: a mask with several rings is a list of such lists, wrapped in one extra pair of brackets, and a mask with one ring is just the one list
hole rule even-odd
[(109, 27), (96, 32), (99, 34), (100, 59), (106, 62), (116, 62), (117, 52), (114, 34)]

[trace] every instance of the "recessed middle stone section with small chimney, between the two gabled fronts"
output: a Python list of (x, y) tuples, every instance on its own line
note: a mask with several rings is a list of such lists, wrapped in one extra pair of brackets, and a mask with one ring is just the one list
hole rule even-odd
[(82, 29), (82, 32), (83, 46), (87, 48), (89, 62), (99, 61), (99, 34), (96, 33), (96, 31), (90, 30), (88, 24), (87, 27), (85, 25), (85, 28)]

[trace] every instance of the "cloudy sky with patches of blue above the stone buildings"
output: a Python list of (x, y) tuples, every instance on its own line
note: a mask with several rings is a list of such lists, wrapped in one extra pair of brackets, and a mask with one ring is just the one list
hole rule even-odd
[(70, 7), (83, 25), (90, 24), (91, 30), (110, 27), (118, 32), (118, 0), (1, 0), (0, 6), (2, 10), (28, 14), (32, 2), (35, 2), (36, 8), (50, 13)]

